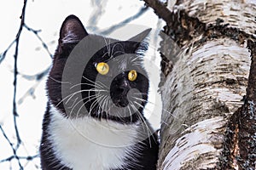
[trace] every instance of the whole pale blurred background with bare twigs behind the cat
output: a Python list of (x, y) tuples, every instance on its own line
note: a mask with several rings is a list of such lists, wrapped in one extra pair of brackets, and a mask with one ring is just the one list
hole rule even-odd
[[(25, 23), (18, 42), (16, 36), (20, 30), (24, 2)], [(155, 65), (160, 65), (155, 52), (159, 42), (157, 34), (163, 27), (163, 22), (151, 8), (144, 6), (143, 1), (1, 0), (1, 170), (40, 169), (38, 145), (47, 101), (45, 80), (57, 46), (61, 23), (69, 14), (77, 15), (89, 33), (124, 40), (145, 28), (153, 28), (148, 56)], [(137, 30), (131, 30), (131, 27)], [(159, 74), (157, 71), (153, 72), (156, 76), (151, 98), (155, 103), (160, 102), (160, 96), (155, 93)], [(160, 104), (151, 110), (160, 111)], [(158, 116), (151, 116), (150, 113), (148, 115), (155, 129), (160, 124), (160, 112), (158, 113)]]

